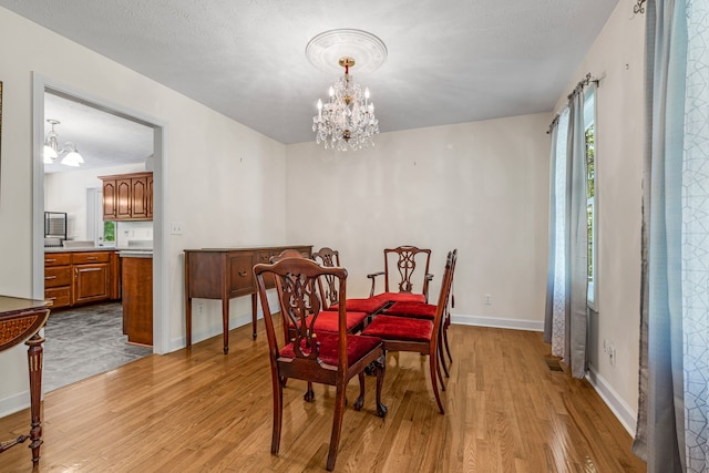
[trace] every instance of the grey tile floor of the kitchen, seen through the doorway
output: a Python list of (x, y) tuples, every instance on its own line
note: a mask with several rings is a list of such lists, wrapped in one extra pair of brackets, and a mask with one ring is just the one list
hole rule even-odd
[(51, 312), (44, 328), (44, 392), (151, 354), (152, 348), (126, 342), (122, 323), (121, 302)]

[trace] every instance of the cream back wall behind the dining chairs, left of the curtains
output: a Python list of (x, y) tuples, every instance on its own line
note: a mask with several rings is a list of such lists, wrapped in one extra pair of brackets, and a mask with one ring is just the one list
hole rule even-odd
[(435, 300), (458, 248), (458, 321), (541, 329), (551, 119), (384, 133), (353, 153), (290, 145), (288, 240), (338, 249), (352, 297), (369, 294), (366, 275), (383, 269), (383, 248), (414, 245), (433, 250)]

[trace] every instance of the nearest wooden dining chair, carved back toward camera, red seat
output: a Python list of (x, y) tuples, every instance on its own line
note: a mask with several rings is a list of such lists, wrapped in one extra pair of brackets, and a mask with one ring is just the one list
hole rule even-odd
[[(280, 311), (290, 320), (297, 330), (291, 339), (280, 340), (276, 336), (274, 312), (266, 294), (265, 276), (273, 275), (279, 281), (282, 291), (279, 294)], [(346, 389), (354, 376), (360, 380), (360, 393), (354, 401), (354, 410), (362, 409), (364, 403), (364, 369), (377, 377), (378, 417), (387, 415), (387, 408), (381, 403), (381, 389), (384, 380), (386, 358), (382, 340), (377, 337), (364, 337), (347, 333), (345, 306), (338, 311), (337, 332), (318, 332), (315, 325), (320, 310), (320, 298), (317, 294), (317, 279), (321, 276), (333, 276), (338, 279), (338, 291), (342, 300), (347, 294), (347, 270), (343, 268), (325, 268), (305, 258), (285, 258), (273, 265), (254, 266), (254, 276), (261, 305), (268, 352), (270, 358), (271, 388), (274, 395), (274, 420), (271, 435), (271, 453), (278, 453), (282, 428), (284, 380), (300, 379), (336, 387), (335, 413), (327, 469), (335, 467), (337, 450), (342, 430), (342, 415), (346, 407)]]

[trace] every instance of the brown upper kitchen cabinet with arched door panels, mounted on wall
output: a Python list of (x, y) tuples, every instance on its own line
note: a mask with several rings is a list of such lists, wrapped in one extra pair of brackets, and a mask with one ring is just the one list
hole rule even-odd
[(152, 220), (153, 173), (99, 176), (103, 181), (104, 220)]

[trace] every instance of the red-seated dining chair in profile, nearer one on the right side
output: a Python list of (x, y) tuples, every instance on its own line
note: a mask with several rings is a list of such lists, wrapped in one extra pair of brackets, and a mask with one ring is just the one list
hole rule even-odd
[(439, 332), (451, 294), (453, 268), (456, 259), (458, 251), (449, 251), (433, 320), (379, 315), (362, 331), (363, 336), (381, 338), (384, 341), (386, 351), (413, 351), (429, 356), (433, 394), (442, 414), (445, 413), (445, 410), (439, 393)]

